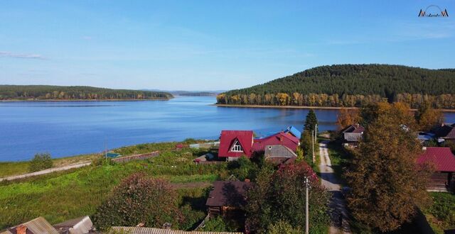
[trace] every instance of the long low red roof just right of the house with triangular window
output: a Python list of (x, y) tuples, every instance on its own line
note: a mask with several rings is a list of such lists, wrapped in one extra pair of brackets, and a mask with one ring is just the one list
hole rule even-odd
[(253, 151), (264, 152), (267, 145), (284, 145), (289, 147), (289, 149), (296, 151), (297, 146), (299, 146), (299, 138), (282, 132), (269, 135), (267, 138), (255, 139), (255, 143), (253, 143)]

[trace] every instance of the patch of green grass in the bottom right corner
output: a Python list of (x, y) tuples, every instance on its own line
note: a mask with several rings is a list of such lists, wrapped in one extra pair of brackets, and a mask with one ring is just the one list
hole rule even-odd
[(444, 233), (446, 229), (455, 229), (455, 194), (430, 192), (433, 204), (423, 210), (427, 221), (435, 233)]

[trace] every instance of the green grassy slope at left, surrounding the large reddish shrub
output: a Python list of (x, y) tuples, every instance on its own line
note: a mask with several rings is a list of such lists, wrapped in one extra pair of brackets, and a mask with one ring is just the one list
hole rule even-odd
[[(109, 191), (134, 172), (168, 179), (172, 183), (213, 182), (228, 177), (225, 164), (195, 165), (192, 160), (202, 150), (172, 151), (175, 143), (144, 144), (123, 147), (123, 152), (161, 150), (159, 157), (125, 164), (104, 163), (39, 177), (0, 183), (0, 230), (43, 216), (50, 223), (92, 215)], [(120, 150), (119, 150), (120, 151)], [(178, 189), (179, 205), (187, 220), (180, 227), (191, 229), (204, 218), (204, 188)]]

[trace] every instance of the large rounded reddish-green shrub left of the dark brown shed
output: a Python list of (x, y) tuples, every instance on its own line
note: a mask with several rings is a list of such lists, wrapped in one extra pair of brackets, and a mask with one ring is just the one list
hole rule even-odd
[(183, 221), (178, 211), (177, 194), (171, 184), (137, 173), (116, 186), (93, 216), (95, 227), (106, 230), (112, 225), (161, 227), (177, 226)]

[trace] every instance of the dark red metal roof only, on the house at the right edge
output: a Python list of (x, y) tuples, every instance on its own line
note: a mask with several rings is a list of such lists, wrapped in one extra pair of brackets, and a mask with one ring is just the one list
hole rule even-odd
[(449, 147), (427, 147), (417, 158), (417, 163), (433, 163), (439, 172), (455, 172), (455, 155)]

